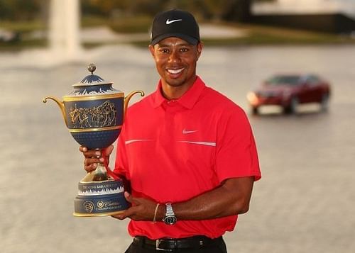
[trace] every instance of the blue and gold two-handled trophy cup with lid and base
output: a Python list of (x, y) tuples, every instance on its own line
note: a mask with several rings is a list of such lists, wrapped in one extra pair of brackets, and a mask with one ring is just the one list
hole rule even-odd
[[(43, 103), (48, 99), (55, 101), (72, 137), (89, 150), (101, 150), (104, 154), (119, 137), (129, 100), (137, 93), (144, 96), (144, 92), (132, 91), (124, 96), (122, 91), (112, 87), (112, 82), (94, 74), (94, 64), (89, 64), (87, 69), (91, 74), (73, 84), (74, 90), (63, 96), (62, 101), (47, 96)], [(129, 207), (124, 198), (123, 181), (111, 172), (106, 157), (103, 158), (104, 162), (97, 164), (97, 169), (78, 184), (73, 213), (77, 217), (115, 215)]]

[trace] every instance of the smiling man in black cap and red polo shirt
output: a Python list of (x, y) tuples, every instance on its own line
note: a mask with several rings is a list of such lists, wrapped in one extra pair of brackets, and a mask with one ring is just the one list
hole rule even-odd
[[(226, 252), (222, 235), (249, 209), (261, 177), (246, 114), (196, 75), (202, 47), (190, 13), (155, 16), (149, 50), (160, 81), (129, 107), (114, 169), (131, 186), (131, 208), (114, 216), (131, 219), (126, 252)], [(102, 162), (80, 151), (87, 172)]]

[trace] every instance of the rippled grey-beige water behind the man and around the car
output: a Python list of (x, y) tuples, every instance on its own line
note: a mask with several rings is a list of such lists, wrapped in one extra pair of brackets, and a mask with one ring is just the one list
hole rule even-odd
[[(263, 179), (249, 213), (226, 234), (229, 252), (355, 251), (354, 52), (352, 46), (205, 48), (198, 73), (246, 110), (246, 92), (275, 72), (316, 72), (334, 91), (328, 113), (306, 106), (298, 116), (274, 108), (250, 116)], [(88, 62), (117, 89), (153, 91), (151, 56), (110, 46), (72, 64), (43, 59), (48, 52), (0, 55), (0, 251), (123, 252), (131, 242), (126, 221), (72, 217), (82, 157), (58, 107), (41, 99), (71, 91)]]

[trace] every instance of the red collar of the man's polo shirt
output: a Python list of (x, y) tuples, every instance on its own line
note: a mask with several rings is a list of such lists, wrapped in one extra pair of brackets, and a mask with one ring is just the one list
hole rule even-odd
[[(165, 101), (168, 101), (168, 99), (165, 99), (161, 94), (161, 85), (162, 85), (161, 80), (159, 80), (158, 87), (155, 91), (154, 100), (153, 100), (153, 106), (155, 108), (161, 106), (162, 103), (164, 103)], [(197, 76), (194, 84), (192, 84), (190, 89), (188, 89), (185, 92), (185, 94), (183, 94), (180, 97), (180, 99), (177, 99), (176, 101), (180, 103), (182, 106), (191, 109), (192, 107), (195, 106), (195, 103), (199, 99), (202, 90), (204, 89), (205, 86), (206, 85), (204, 84), (202, 79), (200, 79), (200, 77)]]

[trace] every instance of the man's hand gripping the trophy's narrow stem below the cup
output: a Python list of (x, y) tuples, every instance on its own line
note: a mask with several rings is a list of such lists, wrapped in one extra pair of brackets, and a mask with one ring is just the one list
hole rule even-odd
[[(114, 146), (110, 145), (107, 147), (104, 155), (107, 157), (107, 163), (109, 163), (109, 155), (112, 150), (114, 150)], [(97, 163), (104, 162), (104, 158), (102, 157), (102, 150), (88, 150), (87, 147), (80, 146), (79, 151), (84, 154), (84, 169), (87, 172), (92, 172), (97, 168)]]

